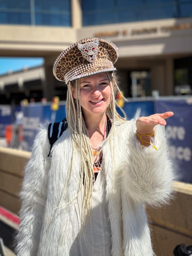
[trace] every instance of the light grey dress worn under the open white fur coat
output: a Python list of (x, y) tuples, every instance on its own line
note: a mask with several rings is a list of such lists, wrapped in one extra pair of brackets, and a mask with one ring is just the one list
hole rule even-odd
[(108, 204), (105, 201), (105, 187), (105, 173), (100, 170), (93, 185), (91, 224), (90, 221), (88, 221), (85, 232), (84, 230), (81, 231), (84, 188), (82, 188), (82, 192), (77, 197), (72, 236), (73, 243), (69, 253), (70, 256), (111, 255), (111, 228), (110, 221), (108, 220)]

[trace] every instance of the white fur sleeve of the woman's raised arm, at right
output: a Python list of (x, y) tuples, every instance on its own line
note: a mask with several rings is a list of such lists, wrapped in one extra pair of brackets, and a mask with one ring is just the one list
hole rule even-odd
[(134, 201), (159, 206), (167, 204), (171, 198), (173, 168), (165, 127), (158, 124), (154, 130), (153, 143), (142, 149), (136, 138), (135, 119), (130, 121), (130, 132), (122, 161), (122, 182), (123, 188)]

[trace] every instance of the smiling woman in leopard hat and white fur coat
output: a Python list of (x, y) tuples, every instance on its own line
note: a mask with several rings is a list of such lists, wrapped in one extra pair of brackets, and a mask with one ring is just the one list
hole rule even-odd
[[(152, 256), (145, 207), (169, 202), (172, 164), (164, 126), (172, 112), (125, 121), (116, 112), (116, 46), (87, 38), (53, 74), (68, 84), (68, 129), (39, 132), (23, 182), (17, 256)], [(155, 144), (155, 145), (154, 145)]]

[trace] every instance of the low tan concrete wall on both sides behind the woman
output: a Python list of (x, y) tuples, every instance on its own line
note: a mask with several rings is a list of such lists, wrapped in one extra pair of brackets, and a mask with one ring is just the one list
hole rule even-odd
[[(0, 148), (0, 205), (18, 213), (23, 169), (31, 153)], [(192, 245), (192, 184), (173, 182), (170, 204), (147, 207), (151, 238), (157, 256), (172, 256), (178, 244)]]

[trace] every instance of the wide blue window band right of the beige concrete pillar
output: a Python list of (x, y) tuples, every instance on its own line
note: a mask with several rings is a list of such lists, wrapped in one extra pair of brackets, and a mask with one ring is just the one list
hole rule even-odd
[(82, 11), (84, 26), (181, 18), (192, 16), (192, 0), (82, 0)]

